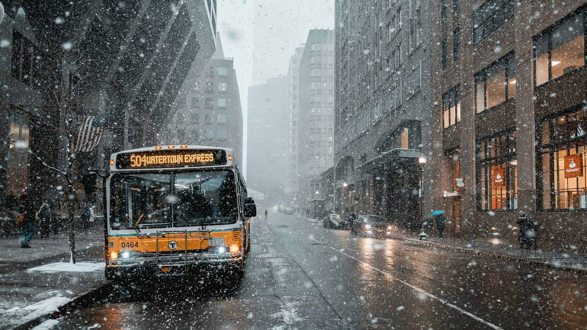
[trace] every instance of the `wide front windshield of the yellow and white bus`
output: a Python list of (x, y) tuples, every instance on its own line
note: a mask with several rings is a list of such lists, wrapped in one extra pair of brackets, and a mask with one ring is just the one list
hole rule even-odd
[(237, 221), (235, 177), (229, 170), (116, 174), (110, 193), (113, 230)]

